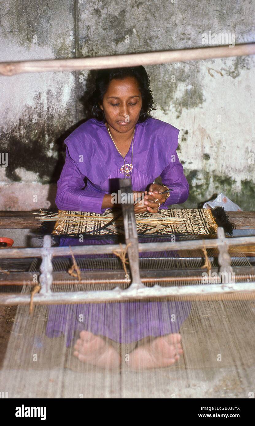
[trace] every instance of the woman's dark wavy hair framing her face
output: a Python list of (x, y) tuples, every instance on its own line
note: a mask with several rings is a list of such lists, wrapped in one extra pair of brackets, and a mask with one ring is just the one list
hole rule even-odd
[(98, 121), (105, 121), (104, 112), (99, 107), (99, 104), (102, 104), (104, 94), (107, 91), (110, 81), (113, 80), (113, 78), (122, 79), (125, 77), (136, 78), (139, 90), (142, 94), (142, 108), (138, 122), (142, 123), (147, 120), (147, 118), (151, 117), (151, 111), (156, 111), (150, 87), (150, 76), (147, 74), (144, 66), (99, 69), (96, 73), (94, 92), (88, 99), (92, 118), (96, 118)]

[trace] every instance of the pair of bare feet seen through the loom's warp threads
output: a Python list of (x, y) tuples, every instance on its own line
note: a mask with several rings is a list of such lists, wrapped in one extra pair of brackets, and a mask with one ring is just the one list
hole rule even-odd
[[(84, 363), (104, 368), (116, 368), (121, 358), (115, 349), (104, 340), (90, 333), (81, 331), (80, 339), (74, 345), (74, 355)], [(152, 342), (140, 346), (130, 353), (126, 364), (131, 369), (159, 368), (171, 366), (183, 353), (179, 333), (157, 337)]]

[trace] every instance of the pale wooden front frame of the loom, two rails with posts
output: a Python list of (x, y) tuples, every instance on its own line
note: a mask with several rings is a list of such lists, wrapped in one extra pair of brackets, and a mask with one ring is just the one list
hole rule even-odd
[[(119, 179), (121, 193), (132, 192), (130, 179)], [(127, 197), (128, 199), (128, 197)], [(228, 253), (229, 245), (243, 245), (255, 243), (255, 236), (237, 237), (228, 239), (225, 237), (222, 227), (217, 229), (217, 239), (201, 239), (180, 242), (157, 242), (157, 243), (138, 243), (138, 235), (136, 231), (136, 219), (133, 204), (122, 204), (122, 214), (125, 228), (125, 241), (127, 254), (130, 264), (131, 283), (127, 289), (119, 287), (113, 290), (96, 290), (96, 291), (61, 291), (53, 292), (51, 285), (53, 282), (53, 256), (70, 255), (68, 247), (51, 247), (51, 236), (45, 235), (43, 238), (43, 247), (41, 248), (9, 248), (1, 250), (2, 258), (23, 258), (23, 257), (41, 257), (40, 266), (41, 275), (39, 276), (40, 292), (33, 295), (34, 304), (58, 304), (58, 303), (91, 303), (91, 302), (122, 302), (127, 300), (155, 299), (155, 298), (198, 298), (210, 299), (215, 297), (221, 299), (222, 296), (228, 295), (230, 298), (236, 299), (246, 298), (246, 296), (255, 296), (255, 281), (245, 283), (221, 282), (217, 284), (199, 284), (199, 285), (175, 285), (171, 287), (161, 287), (154, 285), (146, 287), (140, 277), (139, 271), (139, 252), (145, 251), (162, 251), (162, 250), (182, 250), (182, 249), (198, 249), (198, 248), (217, 248), (219, 250), (218, 262), (220, 265), (219, 272), (221, 274), (229, 274), (233, 272), (231, 267), (231, 258)], [(72, 246), (74, 255), (82, 254), (107, 254), (120, 250), (118, 245), (102, 245), (102, 246)], [(95, 281), (96, 282), (96, 281)], [(79, 284), (78, 280), (73, 281)], [(25, 284), (25, 283), (24, 283)], [(35, 285), (38, 284), (37, 282)], [(0, 294), (1, 305), (29, 305), (31, 302), (30, 294), (6, 293)]]

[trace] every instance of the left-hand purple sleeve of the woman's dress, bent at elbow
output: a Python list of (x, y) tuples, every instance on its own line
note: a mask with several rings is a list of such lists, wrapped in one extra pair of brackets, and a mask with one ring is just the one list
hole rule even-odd
[[(59, 210), (89, 211), (104, 213), (102, 202), (105, 193), (84, 188), (85, 176), (78, 169), (78, 165), (66, 150), (66, 160), (58, 180), (58, 190), (55, 199)], [(83, 189), (84, 188), (84, 189)]]

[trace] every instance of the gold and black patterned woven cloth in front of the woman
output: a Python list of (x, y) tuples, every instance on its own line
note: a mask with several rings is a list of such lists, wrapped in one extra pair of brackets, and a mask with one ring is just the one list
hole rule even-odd
[[(101, 229), (114, 219), (113, 211), (103, 214), (58, 210), (54, 226), (55, 235), (78, 235), (90, 231), (90, 235), (123, 235), (122, 217), (116, 218), (109, 226)], [(136, 227), (138, 235), (164, 236), (169, 234), (217, 234), (217, 223), (210, 209), (170, 209), (151, 213), (138, 213)], [(174, 219), (177, 221), (174, 222)]]

